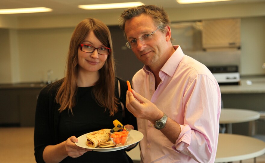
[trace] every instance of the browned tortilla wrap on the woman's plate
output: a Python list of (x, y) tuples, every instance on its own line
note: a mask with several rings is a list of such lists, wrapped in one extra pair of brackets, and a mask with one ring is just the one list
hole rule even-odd
[(110, 139), (110, 130), (111, 129), (101, 129), (98, 131), (91, 132), (86, 135), (87, 141), (86, 145), (92, 148), (98, 146), (98, 144), (105, 143)]

